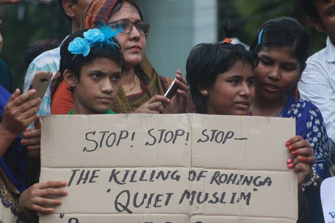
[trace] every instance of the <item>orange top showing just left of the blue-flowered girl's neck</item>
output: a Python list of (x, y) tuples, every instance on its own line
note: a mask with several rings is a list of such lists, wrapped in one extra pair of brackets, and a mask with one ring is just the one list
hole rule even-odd
[(72, 92), (68, 90), (70, 86), (65, 81), (57, 88), (51, 102), (51, 114), (63, 115), (68, 114), (73, 109)]

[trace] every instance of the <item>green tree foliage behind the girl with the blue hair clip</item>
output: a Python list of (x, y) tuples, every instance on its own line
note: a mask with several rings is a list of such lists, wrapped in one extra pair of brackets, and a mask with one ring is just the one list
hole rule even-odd
[[(316, 31), (306, 20), (303, 11), (298, 7), (296, 0), (219, 0), (219, 24), (227, 21), (228, 24), (242, 24), (245, 33), (237, 37), (250, 44), (254, 39), (258, 27), (267, 20), (276, 16), (285, 15), (296, 18), (313, 36), (311, 54), (326, 46), (326, 34)], [(219, 39), (224, 33), (219, 32)]]

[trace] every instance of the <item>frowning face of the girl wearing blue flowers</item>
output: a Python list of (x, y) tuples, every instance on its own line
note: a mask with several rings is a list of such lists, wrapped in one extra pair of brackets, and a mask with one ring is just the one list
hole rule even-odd
[(119, 91), (121, 66), (99, 58), (80, 68), (74, 86), (74, 110), (78, 114), (101, 114), (109, 109)]

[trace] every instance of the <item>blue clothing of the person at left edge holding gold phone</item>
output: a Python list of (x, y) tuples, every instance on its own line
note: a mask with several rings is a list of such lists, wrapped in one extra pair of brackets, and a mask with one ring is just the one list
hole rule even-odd
[[(2, 120), (3, 109), (11, 94), (0, 85), (0, 117)], [(19, 135), (0, 158), (0, 173), (6, 180), (9, 189), (16, 194), (26, 189), (25, 184), (25, 159), (26, 152), (21, 144)], [(5, 137), (5, 136), (2, 136)]]

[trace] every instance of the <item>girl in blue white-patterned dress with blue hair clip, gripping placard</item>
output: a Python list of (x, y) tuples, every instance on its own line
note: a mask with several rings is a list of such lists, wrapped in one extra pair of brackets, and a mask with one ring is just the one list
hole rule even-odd
[(298, 99), (297, 89), (311, 41), (310, 33), (289, 17), (271, 19), (260, 27), (250, 46), (260, 63), (254, 73), (255, 98), (247, 114), (296, 119), (296, 136), (286, 142), (291, 151), (287, 165), (295, 172), (313, 165), (320, 176), (315, 182), (310, 181), (313, 169), (304, 173), (303, 182), (315, 187), (299, 184), (299, 200), (306, 200), (305, 208), (299, 206), (299, 216), (304, 222), (323, 222), (320, 185), (332, 165), (328, 138), (321, 112), (310, 101)]

